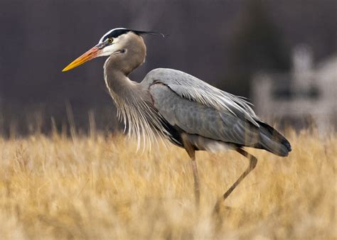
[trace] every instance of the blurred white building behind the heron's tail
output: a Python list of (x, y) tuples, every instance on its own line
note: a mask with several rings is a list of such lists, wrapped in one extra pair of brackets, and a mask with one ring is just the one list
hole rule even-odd
[(311, 50), (298, 46), (292, 71), (255, 75), (251, 97), (257, 114), (269, 120), (311, 119), (322, 132), (337, 128), (337, 55), (314, 66)]

